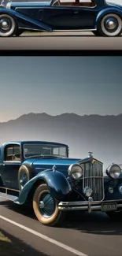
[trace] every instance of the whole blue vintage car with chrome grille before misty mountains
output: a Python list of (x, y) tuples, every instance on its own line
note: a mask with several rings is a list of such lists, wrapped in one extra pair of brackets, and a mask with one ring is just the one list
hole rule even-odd
[(68, 158), (62, 143), (21, 141), (0, 148), (0, 196), (23, 205), (32, 203), (42, 224), (59, 224), (71, 210), (121, 214), (122, 172), (90, 153), (85, 159)]

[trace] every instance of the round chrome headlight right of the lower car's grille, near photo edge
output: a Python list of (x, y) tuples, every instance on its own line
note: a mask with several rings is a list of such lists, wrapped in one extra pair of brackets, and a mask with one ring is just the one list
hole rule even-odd
[(106, 169), (106, 173), (113, 179), (118, 179), (121, 173), (120, 166), (115, 164), (110, 165), (108, 169)]

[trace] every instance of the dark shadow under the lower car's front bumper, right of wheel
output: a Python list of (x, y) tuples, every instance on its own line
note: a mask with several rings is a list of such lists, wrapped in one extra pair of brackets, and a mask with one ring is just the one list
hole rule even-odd
[(106, 213), (71, 213), (66, 217), (63, 228), (72, 228), (82, 233), (121, 236), (122, 219), (111, 219)]

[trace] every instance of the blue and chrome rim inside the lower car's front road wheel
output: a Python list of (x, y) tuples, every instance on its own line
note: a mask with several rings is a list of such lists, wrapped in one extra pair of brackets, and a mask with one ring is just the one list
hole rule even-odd
[(44, 192), (39, 198), (39, 212), (45, 218), (49, 218), (53, 215), (55, 210), (55, 201), (49, 192)]

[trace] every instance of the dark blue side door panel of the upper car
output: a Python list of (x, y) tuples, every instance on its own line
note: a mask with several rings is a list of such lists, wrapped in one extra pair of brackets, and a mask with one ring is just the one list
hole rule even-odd
[(54, 30), (91, 29), (94, 28), (95, 14), (96, 7), (50, 6), (43, 10), (41, 21)]

